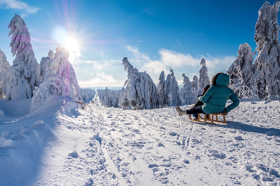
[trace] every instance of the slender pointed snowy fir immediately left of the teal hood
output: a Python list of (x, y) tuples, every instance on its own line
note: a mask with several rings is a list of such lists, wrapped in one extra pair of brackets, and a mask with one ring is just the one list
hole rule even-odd
[(207, 74), (208, 69), (206, 67), (206, 60), (204, 58), (202, 58), (202, 60), (200, 61), (200, 65), (202, 67), (199, 69), (198, 91), (196, 95), (202, 94), (203, 88), (206, 85), (210, 85), (209, 77)]

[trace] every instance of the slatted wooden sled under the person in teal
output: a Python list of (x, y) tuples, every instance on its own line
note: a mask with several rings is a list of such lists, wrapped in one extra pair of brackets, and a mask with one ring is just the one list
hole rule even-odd
[[(193, 108), (193, 107), (194, 106), (192, 106), (191, 108)], [(190, 115), (189, 115), (189, 119), (194, 122), (201, 122), (201, 123), (208, 123), (208, 124), (216, 125), (216, 123), (214, 123), (214, 122), (228, 123), (228, 122), (226, 122), (226, 114), (227, 113), (204, 114), (204, 118), (203, 118), (200, 116), (200, 113), (198, 113), (198, 120), (192, 119)], [(223, 116), (223, 121), (218, 119), (218, 115)], [(214, 119), (214, 117), (216, 117), (216, 118)]]

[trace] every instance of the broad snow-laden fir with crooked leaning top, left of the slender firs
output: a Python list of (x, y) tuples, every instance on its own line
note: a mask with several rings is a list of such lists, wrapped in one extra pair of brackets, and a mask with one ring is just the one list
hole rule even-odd
[(124, 92), (121, 92), (119, 107), (131, 110), (158, 108), (158, 93), (152, 78), (133, 68), (127, 57), (124, 57), (123, 65), (128, 79), (124, 83)]

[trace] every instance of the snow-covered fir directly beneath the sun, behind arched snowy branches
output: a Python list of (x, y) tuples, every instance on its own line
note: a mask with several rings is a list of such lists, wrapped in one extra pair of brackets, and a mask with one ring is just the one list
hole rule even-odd
[(54, 55), (54, 73), (67, 78), (76, 88), (77, 98), (81, 100), (80, 86), (72, 64), (68, 61), (69, 51), (64, 47), (57, 47)]

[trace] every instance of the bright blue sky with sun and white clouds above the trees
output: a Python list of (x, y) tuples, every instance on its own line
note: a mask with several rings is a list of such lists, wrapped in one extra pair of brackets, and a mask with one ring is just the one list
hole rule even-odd
[[(35, 57), (69, 48), (81, 87), (123, 86), (123, 57), (158, 83), (162, 70), (192, 80), (206, 60), (210, 80), (226, 71), (239, 45), (254, 52), (255, 23), (264, 0), (0, 0), (0, 48), (12, 64), (7, 27), (15, 14), (25, 20)], [(268, 1), (271, 4), (274, 1)]]

